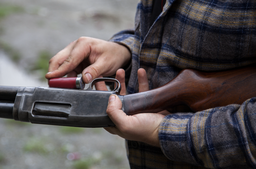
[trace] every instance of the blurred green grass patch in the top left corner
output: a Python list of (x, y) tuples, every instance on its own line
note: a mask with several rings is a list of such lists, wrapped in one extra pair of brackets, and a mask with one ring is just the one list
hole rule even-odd
[(0, 19), (12, 13), (21, 13), (21, 12), (24, 12), (24, 9), (21, 6), (10, 5), (10, 4), (0, 4)]

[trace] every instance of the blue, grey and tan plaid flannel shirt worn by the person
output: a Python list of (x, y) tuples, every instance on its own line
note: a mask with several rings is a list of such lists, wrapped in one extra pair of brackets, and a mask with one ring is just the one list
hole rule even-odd
[[(140, 0), (134, 30), (110, 39), (132, 52), (127, 93), (138, 92), (139, 68), (152, 89), (184, 68), (215, 71), (255, 63), (255, 6), (255, 0), (167, 0), (150, 26), (152, 1)], [(201, 112), (174, 107), (159, 127), (161, 149), (126, 141), (130, 167), (256, 168), (255, 102)]]

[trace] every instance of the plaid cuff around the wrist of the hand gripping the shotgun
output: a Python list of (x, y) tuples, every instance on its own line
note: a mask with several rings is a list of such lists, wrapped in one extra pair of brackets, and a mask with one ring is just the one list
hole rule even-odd
[(159, 142), (164, 155), (173, 161), (198, 165), (188, 150), (187, 125), (194, 113), (175, 113), (164, 117), (159, 127)]

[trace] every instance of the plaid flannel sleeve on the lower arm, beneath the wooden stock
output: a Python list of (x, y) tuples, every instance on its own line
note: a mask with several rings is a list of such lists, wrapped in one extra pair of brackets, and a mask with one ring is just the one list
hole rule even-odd
[(208, 168), (256, 168), (255, 102), (166, 116), (159, 127), (164, 155)]

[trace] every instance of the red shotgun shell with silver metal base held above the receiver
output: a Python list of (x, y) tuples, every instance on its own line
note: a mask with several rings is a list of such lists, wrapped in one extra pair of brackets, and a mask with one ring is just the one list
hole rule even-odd
[(49, 87), (84, 89), (85, 84), (82, 77), (52, 78), (49, 81)]

